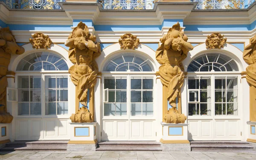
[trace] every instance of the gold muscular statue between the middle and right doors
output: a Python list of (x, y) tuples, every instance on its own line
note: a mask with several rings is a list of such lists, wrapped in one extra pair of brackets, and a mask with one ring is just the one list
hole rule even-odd
[[(181, 62), (186, 58), (188, 51), (193, 49), (193, 46), (187, 40), (188, 37), (183, 33), (179, 22), (177, 22), (160, 39), (162, 44), (156, 51), (157, 62), (161, 64), (159, 67), (160, 80), (163, 87), (166, 88), (163, 88), (163, 90), (167, 90), (166, 95), (163, 95), (163, 97), (167, 97), (167, 101), (169, 101), (169, 104), (173, 108), (169, 110), (167, 115), (163, 116), (166, 119), (168, 119), (170, 114), (173, 115), (173, 113), (177, 115), (175, 118), (180, 116), (176, 103), (180, 103), (180, 96), (178, 97), (178, 95), (180, 95), (180, 88), (184, 81), (184, 67)], [(166, 104), (167, 101), (166, 99), (163, 100)], [(163, 109), (163, 112), (166, 113), (167, 108)], [(166, 120), (166, 122), (184, 123), (184, 121), (179, 120)]]

